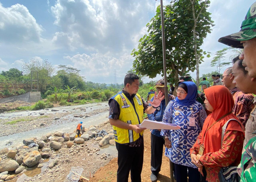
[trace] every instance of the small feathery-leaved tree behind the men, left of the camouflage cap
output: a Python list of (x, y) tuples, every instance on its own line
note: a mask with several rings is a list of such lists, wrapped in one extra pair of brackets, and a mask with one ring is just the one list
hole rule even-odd
[(231, 64), (231, 62), (225, 62), (225, 55), (227, 54), (227, 50), (229, 50), (229, 48), (223, 48), (222, 50), (215, 52), (215, 56), (211, 60), (211, 67), (216, 67), (218, 74), (221, 73), (221, 69), (223, 67)]

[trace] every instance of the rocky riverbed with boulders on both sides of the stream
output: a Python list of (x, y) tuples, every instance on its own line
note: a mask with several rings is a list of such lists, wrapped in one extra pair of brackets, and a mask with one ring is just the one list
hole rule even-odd
[[(16, 127), (7, 122), (20, 119), (19, 116), (1, 119), (1, 135), (27, 131), (31, 128), (44, 130), (44, 127), (57, 122), (72, 122), (73, 119), (77, 121), (77, 118), (93, 117), (95, 114), (106, 112), (108, 108), (94, 108), (89, 112), (90, 108), (79, 106), (72, 110), (74, 112), (47, 110), (32, 114), (27, 111), (27, 115), (30, 115), (28, 117), (32, 120), (19, 121), (15, 123)], [(70, 116), (69, 120), (61, 120), (67, 115)], [(84, 128), (81, 138), (75, 139), (75, 130), (71, 128), (70, 132), (59, 130), (45, 133), (41, 137), (31, 136), (23, 143), (23, 146), (12, 147), (11, 150), (0, 150), (0, 182), (65, 181), (71, 167), (77, 166), (83, 170), (82, 176), (90, 178), (100, 167), (117, 157), (112, 126), (107, 118), (99, 124)]]

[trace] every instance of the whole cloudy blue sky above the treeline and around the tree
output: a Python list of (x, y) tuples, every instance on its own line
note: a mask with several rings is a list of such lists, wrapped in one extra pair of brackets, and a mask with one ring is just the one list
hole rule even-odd
[[(253, 0), (212, 0), (215, 26), (201, 47), (211, 52), (226, 47), (218, 38), (240, 30)], [(21, 69), (30, 59), (48, 59), (81, 70), (87, 81), (118, 83), (132, 68), (131, 51), (147, 32), (160, 0), (0, 0), (0, 71)], [(163, 4), (169, 1), (163, 0)], [(231, 53), (230, 53), (231, 54)], [(230, 54), (227, 54), (227, 60)], [(210, 59), (200, 76), (211, 72)], [(221, 70), (222, 72), (224, 71)], [(191, 73), (196, 78), (196, 73)], [(158, 80), (145, 78), (144, 82)]]

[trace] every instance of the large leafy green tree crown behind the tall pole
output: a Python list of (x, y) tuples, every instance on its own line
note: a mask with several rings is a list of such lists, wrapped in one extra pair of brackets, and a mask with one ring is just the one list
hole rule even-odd
[[(194, 71), (196, 66), (193, 48), (193, 15), (189, 0), (177, 0), (163, 9), (165, 24), (166, 68), (167, 82), (177, 83), (179, 76), (188, 71)], [(199, 6), (196, 6), (199, 8)], [(197, 10), (197, 9), (196, 9)], [(197, 40), (197, 55), (199, 63), (205, 52), (199, 47), (211, 27), (210, 13), (200, 15), (197, 19), (195, 33)], [(163, 76), (161, 12), (157, 7), (156, 15), (147, 26), (147, 35), (139, 40), (137, 50), (132, 51), (135, 57), (133, 68), (141, 75), (154, 78), (157, 74)], [(205, 53), (206, 54), (206, 53)]]

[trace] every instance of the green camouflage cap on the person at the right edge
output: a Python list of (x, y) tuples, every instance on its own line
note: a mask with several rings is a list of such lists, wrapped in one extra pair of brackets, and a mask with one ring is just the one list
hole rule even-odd
[(231, 47), (244, 48), (240, 41), (254, 37), (256, 37), (256, 2), (251, 5), (245, 20), (242, 21), (240, 32), (221, 37), (218, 41)]

